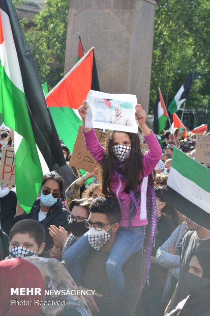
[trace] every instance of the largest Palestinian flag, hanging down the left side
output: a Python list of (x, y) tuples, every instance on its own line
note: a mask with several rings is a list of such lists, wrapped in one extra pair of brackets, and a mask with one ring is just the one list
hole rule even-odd
[(0, 113), (17, 132), (17, 200), (29, 212), (43, 178), (38, 151), (49, 170), (65, 165), (65, 160), (12, 0), (0, 2), (0, 75)]

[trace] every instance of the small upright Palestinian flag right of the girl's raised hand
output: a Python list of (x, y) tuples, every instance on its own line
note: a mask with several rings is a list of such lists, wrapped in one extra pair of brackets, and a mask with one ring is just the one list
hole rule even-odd
[(168, 112), (166, 110), (163, 96), (159, 87), (158, 87), (158, 95), (155, 101), (153, 114), (154, 114), (154, 121), (153, 121), (154, 133), (156, 135), (160, 135), (161, 131), (165, 128), (166, 120), (169, 119), (169, 117), (168, 117)]

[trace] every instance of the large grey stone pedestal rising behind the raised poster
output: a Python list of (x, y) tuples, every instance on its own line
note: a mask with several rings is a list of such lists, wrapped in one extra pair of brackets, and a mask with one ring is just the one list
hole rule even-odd
[(132, 93), (148, 110), (155, 0), (70, 0), (65, 74), (95, 46), (100, 89)]

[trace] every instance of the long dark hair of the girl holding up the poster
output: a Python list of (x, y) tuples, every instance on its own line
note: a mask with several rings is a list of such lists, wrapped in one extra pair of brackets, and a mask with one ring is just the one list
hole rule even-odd
[[(114, 170), (114, 161), (116, 160), (113, 153), (113, 137), (115, 130), (109, 130), (106, 140), (106, 152), (102, 161), (102, 192), (105, 196), (114, 195), (110, 189), (110, 178)], [(131, 139), (131, 151), (128, 159), (123, 163), (123, 172), (127, 183), (125, 192), (136, 188), (143, 180), (143, 167), (140, 139), (138, 134), (122, 132), (129, 135)], [(140, 177), (141, 174), (141, 177)], [(140, 179), (139, 179), (140, 177)]]

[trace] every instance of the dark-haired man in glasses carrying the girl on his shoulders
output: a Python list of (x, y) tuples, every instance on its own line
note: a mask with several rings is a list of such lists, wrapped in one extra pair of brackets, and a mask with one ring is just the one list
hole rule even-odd
[[(82, 278), (79, 285), (81, 289), (95, 289), (96, 292), (94, 296), (85, 297), (85, 300), (91, 311), (97, 312), (101, 316), (133, 315), (145, 279), (144, 253), (140, 250), (128, 260), (125, 257), (123, 265), (125, 289), (121, 296), (112, 298), (106, 265), (116, 240), (116, 232), (121, 221), (121, 210), (113, 197), (99, 197), (91, 203), (89, 211), (88, 220), (85, 220), (85, 225), (89, 228), (85, 233), (87, 235), (85, 247), (89, 252), (88, 248), (91, 246), (92, 251), (82, 262)], [(80, 240), (82, 238), (83, 236)], [(76, 247), (77, 243), (72, 247)], [(69, 250), (64, 254), (67, 270), (69, 270), (70, 264)], [(120, 252), (121, 247), (118, 245), (118, 251), (114, 253), (115, 260)], [(116, 276), (116, 282), (117, 278)]]

